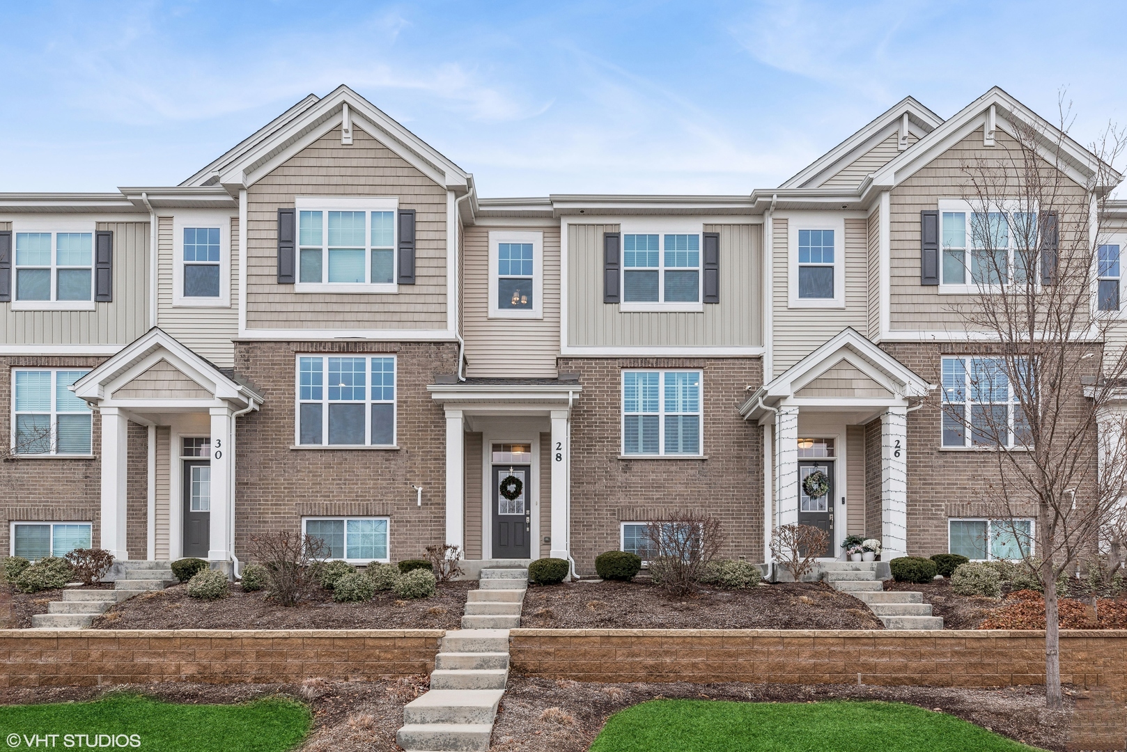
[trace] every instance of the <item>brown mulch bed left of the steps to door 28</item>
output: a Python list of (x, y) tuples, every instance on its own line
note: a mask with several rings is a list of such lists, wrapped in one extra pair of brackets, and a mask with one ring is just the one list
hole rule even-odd
[(296, 607), (278, 605), (263, 592), (230, 586), (218, 601), (189, 598), (175, 585), (131, 598), (94, 620), (94, 629), (458, 629), (465, 592), (478, 583), (438, 585), (434, 598), (398, 600), (388, 591), (363, 603), (336, 603), (332, 593), (314, 590)]

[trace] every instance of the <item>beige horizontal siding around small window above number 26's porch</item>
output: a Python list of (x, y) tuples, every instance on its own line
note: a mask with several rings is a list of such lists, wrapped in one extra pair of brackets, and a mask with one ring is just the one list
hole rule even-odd
[(868, 239), (863, 219), (845, 220), (845, 308), (789, 308), (789, 222), (779, 218), (774, 235), (774, 375), (802, 360), (845, 327), (864, 331), (868, 325)]

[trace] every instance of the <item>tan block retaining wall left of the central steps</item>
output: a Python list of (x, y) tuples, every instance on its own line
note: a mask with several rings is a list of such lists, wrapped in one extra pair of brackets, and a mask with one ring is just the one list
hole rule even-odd
[(441, 629), (0, 630), (0, 688), (373, 681), (434, 669)]

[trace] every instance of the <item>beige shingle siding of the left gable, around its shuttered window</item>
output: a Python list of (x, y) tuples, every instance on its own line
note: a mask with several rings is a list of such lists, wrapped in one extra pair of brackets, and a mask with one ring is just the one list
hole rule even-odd
[[(296, 293), (277, 283), (277, 210), (294, 196), (398, 196), (416, 210), (414, 285), (398, 294)], [(330, 131), (247, 191), (247, 327), (445, 329), (446, 191), (363, 130)]]

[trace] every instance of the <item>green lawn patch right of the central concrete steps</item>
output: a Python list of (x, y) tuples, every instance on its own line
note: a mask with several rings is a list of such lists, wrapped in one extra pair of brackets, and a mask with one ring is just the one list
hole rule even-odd
[(1031, 752), (899, 702), (651, 700), (615, 713), (591, 752)]

